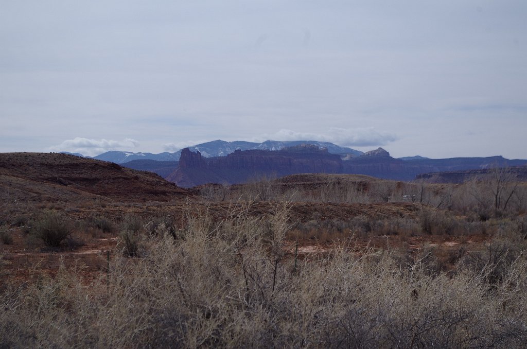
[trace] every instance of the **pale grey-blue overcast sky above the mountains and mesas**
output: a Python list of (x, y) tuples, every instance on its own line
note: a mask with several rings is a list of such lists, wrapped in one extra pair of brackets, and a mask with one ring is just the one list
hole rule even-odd
[(0, 152), (527, 159), (524, 0), (0, 0)]

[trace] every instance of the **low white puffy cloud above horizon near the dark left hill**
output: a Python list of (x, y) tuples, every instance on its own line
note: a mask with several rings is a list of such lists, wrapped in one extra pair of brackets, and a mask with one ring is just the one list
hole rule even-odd
[(58, 146), (50, 147), (50, 151), (69, 151), (72, 153), (81, 153), (87, 156), (96, 156), (106, 151), (118, 150), (126, 151), (139, 146), (139, 142), (125, 138), (122, 141), (105, 140), (105, 139), (88, 139), (75, 137), (74, 139), (65, 140)]

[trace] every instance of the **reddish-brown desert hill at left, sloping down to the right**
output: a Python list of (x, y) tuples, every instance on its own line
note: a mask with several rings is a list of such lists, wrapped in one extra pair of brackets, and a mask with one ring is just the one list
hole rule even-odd
[(59, 153), (0, 153), (0, 185), (12, 197), (7, 199), (38, 201), (82, 197), (167, 201), (188, 195), (187, 190), (151, 172)]

